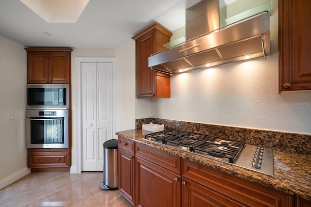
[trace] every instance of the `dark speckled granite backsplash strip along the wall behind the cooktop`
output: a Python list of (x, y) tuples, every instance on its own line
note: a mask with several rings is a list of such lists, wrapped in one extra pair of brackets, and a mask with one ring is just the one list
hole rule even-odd
[(177, 129), (229, 139), (243, 140), (247, 144), (261, 144), (265, 147), (273, 148), (279, 151), (311, 155), (311, 135), (228, 127), (159, 118), (136, 119), (136, 129), (141, 129), (142, 124), (149, 124), (150, 122), (160, 125), (164, 124), (165, 129)]

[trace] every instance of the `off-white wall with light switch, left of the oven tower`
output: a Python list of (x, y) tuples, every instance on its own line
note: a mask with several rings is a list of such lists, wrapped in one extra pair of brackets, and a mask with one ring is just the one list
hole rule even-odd
[[(0, 189), (27, 175), (27, 52), (0, 36)], [(13, 121), (8, 121), (13, 114)]]

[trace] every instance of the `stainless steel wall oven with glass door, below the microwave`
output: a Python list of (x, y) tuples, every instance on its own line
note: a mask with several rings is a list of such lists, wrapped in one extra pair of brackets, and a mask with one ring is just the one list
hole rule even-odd
[(27, 148), (68, 148), (69, 110), (27, 110)]

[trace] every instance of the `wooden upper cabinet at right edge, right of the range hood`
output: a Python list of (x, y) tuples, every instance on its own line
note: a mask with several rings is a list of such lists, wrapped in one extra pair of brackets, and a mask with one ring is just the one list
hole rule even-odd
[(311, 1), (279, 0), (279, 92), (311, 90)]

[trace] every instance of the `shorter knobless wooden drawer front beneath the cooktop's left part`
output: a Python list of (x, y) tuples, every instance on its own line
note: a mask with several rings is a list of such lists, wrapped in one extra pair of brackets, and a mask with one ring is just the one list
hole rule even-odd
[(136, 155), (180, 175), (181, 159), (158, 149), (136, 143)]

